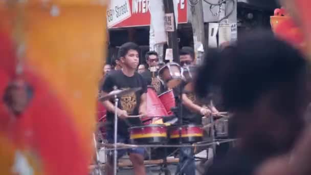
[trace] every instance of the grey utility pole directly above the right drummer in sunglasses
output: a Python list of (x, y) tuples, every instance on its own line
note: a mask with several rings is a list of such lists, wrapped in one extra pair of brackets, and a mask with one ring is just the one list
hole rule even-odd
[[(190, 0), (188, 2), (190, 5), (190, 11), (192, 16), (191, 25), (193, 32), (194, 53), (195, 57), (200, 59), (203, 55), (199, 54), (199, 47), (203, 46), (203, 48), (206, 48), (202, 0)], [(196, 61), (198, 61), (198, 63), (201, 62), (201, 60)]]

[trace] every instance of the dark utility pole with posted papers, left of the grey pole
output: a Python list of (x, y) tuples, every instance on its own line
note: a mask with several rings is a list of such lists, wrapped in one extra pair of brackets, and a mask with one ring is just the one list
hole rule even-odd
[(163, 0), (164, 3), (164, 11), (165, 14), (173, 13), (174, 19), (174, 31), (167, 32), (168, 33), (168, 48), (173, 49), (173, 61), (179, 63), (179, 45), (177, 41), (177, 29), (176, 23), (178, 19), (175, 19), (175, 12), (174, 12), (174, 3), (175, 0)]

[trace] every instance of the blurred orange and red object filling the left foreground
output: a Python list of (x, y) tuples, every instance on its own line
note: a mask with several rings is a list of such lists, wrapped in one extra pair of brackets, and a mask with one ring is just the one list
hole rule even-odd
[(1, 98), (19, 62), (34, 89), (17, 119), (0, 103), (0, 174), (18, 174), (12, 171), (17, 160), (28, 162), (33, 174), (87, 173), (105, 56), (105, 2), (0, 2)]

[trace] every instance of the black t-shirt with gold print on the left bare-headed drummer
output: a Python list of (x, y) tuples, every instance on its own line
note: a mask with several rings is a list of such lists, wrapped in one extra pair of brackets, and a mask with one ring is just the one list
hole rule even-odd
[[(103, 84), (103, 92), (109, 93), (114, 90), (116, 86), (119, 90), (125, 90), (129, 88), (142, 88), (136, 93), (131, 93), (122, 96), (119, 99), (118, 107), (127, 111), (128, 115), (139, 115), (139, 106), (141, 95), (147, 93), (147, 83), (141, 75), (135, 72), (134, 76), (127, 77), (121, 70), (109, 73)], [(114, 100), (111, 100), (114, 103)], [(114, 118), (115, 114), (107, 112), (106, 129), (114, 130)], [(130, 126), (141, 125), (139, 118), (118, 118), (118, 134), (128, 135), (128, 128)]]

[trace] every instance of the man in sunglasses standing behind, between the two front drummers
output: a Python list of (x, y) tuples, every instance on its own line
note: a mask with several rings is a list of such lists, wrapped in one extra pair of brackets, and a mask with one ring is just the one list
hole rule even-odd
[(158, 53), (155, 51), (149, 51), (146, 53), (145, 57), (148, 64), (148, 69), (141, 73), (141, 75), (147, 81), (148, 85), (153, 86), (157, 94), (161, 94), (163, 93), (164, 88), (159, 78), (157, 78), (159, 71)]

